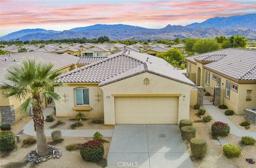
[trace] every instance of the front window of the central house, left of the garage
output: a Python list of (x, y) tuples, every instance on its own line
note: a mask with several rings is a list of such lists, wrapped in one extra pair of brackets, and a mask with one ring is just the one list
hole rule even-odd
[(89, 104), (89, 89), (75, 89), (76, 105), (90, 105)]

